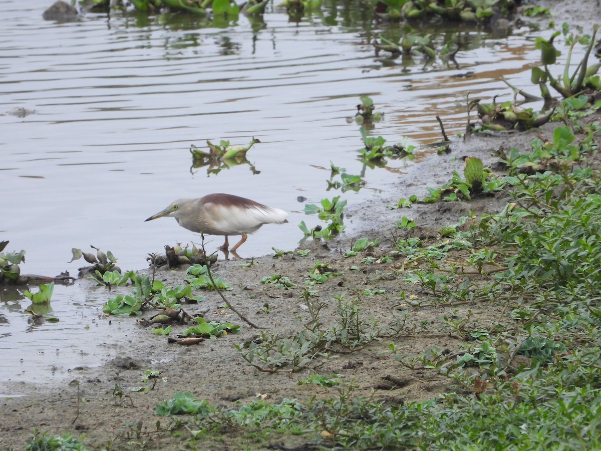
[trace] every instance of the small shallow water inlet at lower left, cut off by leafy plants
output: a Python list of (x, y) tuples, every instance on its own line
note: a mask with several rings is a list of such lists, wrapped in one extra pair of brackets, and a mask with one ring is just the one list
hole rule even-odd
[[(122, 354), (135, 321), (102, 318), (106, 296), (102, 288), (56, 285), (50, 304), (34, 305), (20, 290), (0, 289), (0, 397), (17, 394), (16, 382), (77, 378), (77, 367), (98, 366)], [(25, 313), (29, 309), (59, 322), (32, 321)]]

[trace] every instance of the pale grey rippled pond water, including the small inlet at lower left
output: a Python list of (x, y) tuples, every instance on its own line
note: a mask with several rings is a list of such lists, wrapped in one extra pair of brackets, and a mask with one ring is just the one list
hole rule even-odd
[[(457, 66), (439, 59), (425, 66), (419, 57), (376, 56), (368, 43), (394, 25), (361, 23), (359, 10), (326, 6), (323, 17), (300, 23), (272, 10), (264, 23), (240, 16), (217, 28), (185, 15), (86, 14), (78, 22), (44, 22), (50, 3), (8, 0), (0, 10), (0, 241), (10, 241), (8, 251), (26, 250), (24, 274), (75, 275), (84, 262), (68, 264), (70, 249), (90, 245), (111, 250), (124, 270), (144, 268), (147, 254), (165, 244), (199, 240), (173, 219), (144, 219), (176, 198), (209, 192), (290, 212), (288, 224), (266, 225), (249, 237), (242, 257), (292, 250), (302, 238), (297, 224), (320, 223), (302, 213), (297, 197), (319, 203), (340, 194), (326, 191), (330, 162), (349, 174), (365, 172), (366, 187), (343, 194), (349, 205), (392, 186), (398, 197), (423, 195), (425, 186), (406, 192), (399, 182), (419, 179), (421, 165), (450, 157), (421, 150), (413, 161), (366, 169), (358, 159), (359, 126), (346, 120), (359, 96), (371, 96), (385, 112), (371, 133), (389, 144), (402, 137), (416, 146), (439, 140), (435, 116), (449, 135), (461, 132), (465, 112), (458, 103), (467, 93), (513, 98), (501, 75), (536, 93), (529, 82), (538, 58), (534, 37), (548, 34), (521, 29), (492, 37), (466, 29)], [(435, 38), (442, 43), (445, 35)], [(18, 117), (10, 114), (15, 108), (34, 112)], [(191, 144), (246, 144), (251, 137), (261, 140), (248, 152), (254, 171), (250, 164), (217, 174), (191, 167)], [(102, 299), (84, 303), (78, 286), (57, 287), (52, 308), (61, 322), (35, 328), (26, 324), (28, 301), (20, 292), (17, 300), (0, 296), (8, 362), (0, 380), (31, 380), (35, 368), (35, 377), (47, 378), (103, 363), (97, 337), (118, 339), (120, 320), (108, 326), (99, 319)], [(96, 351), (85, 355), (82, 348)]]

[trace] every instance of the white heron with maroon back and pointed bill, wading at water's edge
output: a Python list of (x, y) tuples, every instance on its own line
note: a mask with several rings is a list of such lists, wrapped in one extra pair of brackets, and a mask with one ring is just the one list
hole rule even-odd
[(166, 209), (150, 216), (145, 221), (171, 216), (184, 229), (203, 235), (224, 235), (221, 249), (228, 250), (228, 236), (242, 235), (242, 239), (231, 248), (232, 253), (246, 241), (247, 233), (256, 232), (263, 224), (288, 222), (288, 213), (231, 194), (207, 194), (198, 199), (179, 199)]

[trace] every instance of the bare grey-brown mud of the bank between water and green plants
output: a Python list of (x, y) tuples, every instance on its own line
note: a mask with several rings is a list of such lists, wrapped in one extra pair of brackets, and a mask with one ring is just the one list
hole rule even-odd
[[(582, 2), (582, 9), (593, 7), (594, 2)], [(561, 7), (562, 5), (554, 5)], [(574, 17), (581, 20), (581, 8)], [(568, 11), (570, 12), (570, 11)], [(587, 15), (590, 17), (590, 14)], [(558, 19), (559, 20), (559, 19)], [(562, 19), (567, 20), (567, 19)], [(587, 120), (598, 120), (598, 115)], [(499, 147), (510, 149), (517, 147), (529, 149), (529, 143), (535, 137), (551, 139), (556, 124), (547, 124), (540, 130), (524, 133), (502, 133), (494, 137), (472, 137), (467, 143), (453, 144), (451, 156), (434, 157), (435, 161), (427, 176), (427, 185), (439, 186), (447, 182), (453, 170), (461, 171), (463, 156), (477, 156), (485, 165), (495, 168), (496, 152)], [(423, 182), (423, 180), (421, 180)], [(314, 395), (327, 396), (325, 389), (314, 385), (298, 385), (297, 382), (312, 373), (303, 370), (298, 373), (263, 373), (240, 358), (235, 345), (256, 340), (260, 331), (278, 336), (290, 336), (302, 329), (309, 319), (305, 302), (301, 296), (310, 273), (316, 263), (329, 263), (332, 271), (340, 272), (326, 283), (313, 286), (319, 293), (319, 299), (333, 299), (344, 293), (347, 299), (360, 299), (361, 311), (365, 317), (382, 323), (399, 321), (403, 314), (410, 312), (410, 321), (419, 324), (433, 321), (442, 314), (439, 309), (418, 310), (404, 304), (400, 293), (420, 298), (412, 284), (403, 281), (398, 260), (378, 262), (386, 254), (398, 236), (418, 236), (425, 242), (438, 238), (442, 225), (457, 222), (460, 216), (474, 212), (499, 212), (505, 205), (505, 195), (481, 197), (470, 203), (438, 203), (433, 205), (415, 204), (410, 209), (390, 209), (400, 197), (407, 194), (423, 196), (425, 192), (412, 191), (418, 186), (418, 180), (402, 180), (389, 186), (386, 191), (377, 193), (361, 207), (349, 209), (346, 221), (361, 224), (361, 233), (356, 236), (342, 235), (330, 242), (308, 241), (299, 249), (309, 249), (307, 256), (285, 255), (280, 259), (263, 256), (254, 259), (255, 265), (243, 267), (248, 260), (221, 261), (213, 266), (219, 277), (224, 277), (232, 286), (225, 293), (229, 301), (243, 314), (248, 316), (258, 329), (249, 327), (230, 309), (224, 308), (224, 302), (215, 292), (203, 292), (205, 300), (199, 304), (185, 305), (189, 314), (204, 314), (207, 321), (228, 321), (241, 326), (240, 334), (230, 334), (215, 340), (207, 340), (198, 345), (182, 347), (172, 345), (164, 337), (155, 336), (150, 328), (139, 328), (138, 334), (127, 337), (125, 342), (110, 342), (118, 357), (101, 367), (74, 367), (70, 377), (57, 384), (44, 386), (27, 383), (11, 387), (14, 393), (22, 396), (0, 400), (3, 422), (0, 426), (0, 446), (3, 449), (22, 449), (23, 443), (31, 437), (33, 428), (49, 431), (53, 434), (85, 434), (85, 444), (90, 449), (104, 449), (111, 441), (115, 449), (126, 449), (128, 434), (132, 427), (139, 426), (147, 440), (147, 449), (172, 449), (183, 446), (178, 438), (168, 434), (153, 434), (159, 417), (154, 415), (157, 403), (172, 397), (177, 391), (191, 391), (198, 399), (207, 399), (218, 405), (232, 406), (234, 403), (246, 403), (264, 396), (279, 401), (283, 398), (308, 398)], [(417, 227), (413, 232), (399, 230), (395, 221), (402, 216), (411, 216)], [(352, 247), (357, 238), (378, 241), (378, 245), (369, 253), (354, 257), (344, 257), (344, 251)], [(362, 260), (373, 257), (374, 263), (366, 264)], [(141, 271), (150, 274), (150, 271)], [(275, 286), (261, 284), (260, 280), (273, 274), (288, 277), (296, 287), (281, 290)], [(156, 278), (168, 285), (182, 284), (184, 271), (159, 269)], [(89, 284), (82, 280), (78, 283)], [(480, 321), (493, 322), (500, 312), (491, 305), (466, 305)], [(154, 312), (147, 312), (150, 316)], [(460, 312), (461, 313), (461, 312)], [(323, 321), (335, 318), (335, 308), (326, 308)], [(107, 320), (108, 321), (108, 320)], [(135, 319), (120, 319), (135, 321)], [(185, 327), (174, 327), (174, 333)], [(108, 340), (108, 339), (107, 339)], [(407, 334), (395, 339), (404, 352), (419, 354), (430, 346), (453, 349), (457, 337), (444, 334)], [(377, 390), (377, 399), (401, 403), (412, 400), (428, 399), (448, 389), (447, 379), (433, 373), (410, 373), (387, 354), (382, 354), (384, 344), (374, 343), (368, 348), (352, 354), (335, 355), (317, 370), (322, 374), (338, 373), (352, 379), (363, 393)], [(142, 381), (145, 370), (160, 372), (154, 381)], [(79, 382), (70, 385), (71, 380)], [(397, 381), (397, 382), (395, 382)], [(402, 386), (398, 384), (402, 381)], [(391, 384), (397, 384), (398, 390), (390, 391)], [(123, 396), (114, 396), (115, 386), (121, 387)], [(152, 387), (150, 391), (132, 391), (132, 388)], [(81, 402), (78, 402), (78, 399)], [(167, 422), (166, 419), (160, 419)], [(294, 443), (287, 443), (293, 446)], [(241, 446), (254, 448), (253, 442), (242, 439), (235, 444), (223, 444), (223, 449), (239, 449)]]

